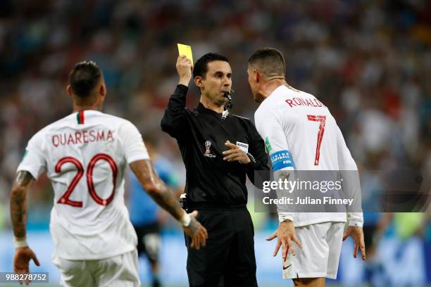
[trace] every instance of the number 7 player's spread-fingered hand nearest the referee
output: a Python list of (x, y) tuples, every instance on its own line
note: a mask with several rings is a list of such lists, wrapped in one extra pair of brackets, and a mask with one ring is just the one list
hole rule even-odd
[(293, 222), (290, 220), (285, 220), (280, 224), (280, 226), (277, 228), (277, 230), (269, 237), (266, 238), (266, 240), (271, 241), (275, 237), (278, 237), (277, 246), (275, 246), (274, 254), (273, 256), (276, 256), (278, 253), (278, 250), (280, 250), (280, 246), (282, 246), (282, 258), (283, 260), (286, 260), (287, 252), (290, 250), (290, 253), (295, 256), (295, 248), (293, 245), (293, 242), (296, 243), (296, 245), (299, 246), (299, 248), (302, 248), (301, 242), (299, 242), (299, 239), (296, 238), (296, 232)]

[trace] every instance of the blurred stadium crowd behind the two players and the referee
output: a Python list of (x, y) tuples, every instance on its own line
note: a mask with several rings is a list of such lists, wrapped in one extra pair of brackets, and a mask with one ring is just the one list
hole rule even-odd
[[(125, 117), (144, 136), (156, 137), (158, 152), (184, 180), (177, 146), (160, 129), (177, 83), (177, 42), (192, 46), (194, 60), (208, 51), (229, 58), (236, 91), (232, 111), (250, 118), (257, 105), (246, 78), (248, 56), (262, 46), (280, 49), (287, 82), (330, 108), (362, 173), (430, 172), (430, 1), (4, 0), (0, 234), (11, 232), (9, 193), (27, 141), (71, 112), (65, 86), (80, 60), (94, 60), (104, 71), (105, 113)], [(187, 105), (196, 106), (198, 96), (192, 88)], [(42, 178), (31, 194), (30, 230), (47, 230), (52, 198), (49, 181)], [(430, 282), (430, 216), (398, 214), (389, 224), (382, 224), (381, 216), (370, 218), (385, 236), (423, 245), (424, 280)], [(269, 215), (256, 220), (257, 231), (268, 234), (276, 224)]]

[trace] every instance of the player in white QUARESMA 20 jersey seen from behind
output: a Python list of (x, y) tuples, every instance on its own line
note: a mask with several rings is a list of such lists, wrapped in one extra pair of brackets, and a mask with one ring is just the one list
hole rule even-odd
[(14, 272), (28, 273), (30, 260), (39, 266), (25, 236), (27, 191), (46, 172), (54, 188), (49, 228), (61, 285), (140, 286), (137, 236), (124, 203), (127, 165), (151, 198), (180, 221), (192, 247), (205, 245), (206, 229), (158, 178), (135, 125), (101, 113), (106, 86), (94, 62), (75, 65), (67, 91), (73, 113), (30, 139), (13, 184)]

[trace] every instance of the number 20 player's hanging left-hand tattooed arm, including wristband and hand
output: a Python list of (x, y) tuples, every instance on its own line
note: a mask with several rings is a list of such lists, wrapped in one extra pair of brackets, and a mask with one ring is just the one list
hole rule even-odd
[[(27, 246), (25, 225), (27, 221), (27, 191), (35, 179), (29, 172), (18, 172), (11, 192), (11, 219), (13, 234), (15, 235), (15, 257), (13, 257), (13, 271), (28, 274), (30, 260), (40, 266), (35, 253)], [(29, 283), (30, 281), (26, 281)]]

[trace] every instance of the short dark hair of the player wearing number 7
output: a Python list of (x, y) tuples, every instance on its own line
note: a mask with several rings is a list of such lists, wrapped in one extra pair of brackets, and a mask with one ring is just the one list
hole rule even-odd
[(280, 51), (274, 48), (262, 48), (249, 58), (249, 66), (256, 68), (266, 77), (285, 77), (286, 63)]

